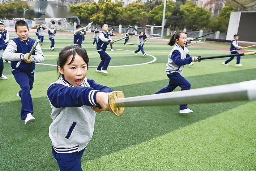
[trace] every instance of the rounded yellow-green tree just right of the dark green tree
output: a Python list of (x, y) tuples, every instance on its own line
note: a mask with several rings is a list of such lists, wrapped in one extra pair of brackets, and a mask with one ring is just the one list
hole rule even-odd
[(180, 5), (180, 10), (184, 11), (184, 26), (189, 30), (199, 30), (208, 26), (210, 12), (192, 1), (187, 1), (184, 5)]

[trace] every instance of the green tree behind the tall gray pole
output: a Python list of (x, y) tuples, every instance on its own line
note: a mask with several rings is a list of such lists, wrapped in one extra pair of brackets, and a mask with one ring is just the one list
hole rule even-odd
[[(162, 25), (163, 19), (163, 1), (161, 5), (156, 6), (149, 12), (149, 23), (152, 25)], [(175, 3), (171, 0), (167, 0), (166, 2), (166, 10), (165, 10), (165, 18), (171, 15), (172, 9), (174, 8)], [(170, 26), (170, 22), (167, 20), (166, 26)]]

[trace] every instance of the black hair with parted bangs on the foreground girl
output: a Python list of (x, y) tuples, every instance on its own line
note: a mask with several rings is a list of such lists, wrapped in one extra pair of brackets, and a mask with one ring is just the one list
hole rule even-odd
[[(84, 59), (85, 63), (87, 64), (87, 69), (89, 69), (89, 57), (86, 50), (84, 48), (80, 48), (79, 46), (74, 45), (66, 46), (65, 48), (60, 50), (59, 57), (57, 58), (57, 66), (63, 68), (70, 55), (72, 55), (72, 59), (71, 62), (68, 63), (68, 65), (72, 64), (74, 62), (74, 58), (76, 57), (76, 53)], [(57, 71), (59, 71), (58, 68)], [(59, 76), (61, 76), (61, 74)]]

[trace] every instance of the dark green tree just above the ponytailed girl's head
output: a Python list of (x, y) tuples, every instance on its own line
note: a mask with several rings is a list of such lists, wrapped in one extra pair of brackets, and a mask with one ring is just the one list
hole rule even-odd
[(177, 27), (179, 29), (181, 26), (183, 26), (183, 17), (184, 12), (180, 10), (179, 6), (175, 6), (171, 15), (167, 17), (173, 30), (176, 30)]

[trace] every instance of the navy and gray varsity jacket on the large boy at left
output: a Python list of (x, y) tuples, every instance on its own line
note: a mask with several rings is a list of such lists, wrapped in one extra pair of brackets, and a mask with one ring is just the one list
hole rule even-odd
[(26, 41), (17, 37), (9, 42), (4, 51), (3, 57), (6, 60), (10, 60), (12, 70), (20, 69), (24, 72), (32, 73), (35, 70), (35, 62), (43, 62), (44, 55), (39, 44), (31, 55), (32, 62), (26, 63), (23, 60), (24, 55), (29, 53), (32, 49), (34, 42), (35, 40), (30, 37)]

